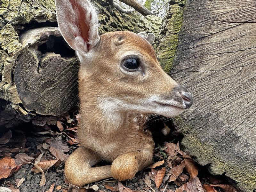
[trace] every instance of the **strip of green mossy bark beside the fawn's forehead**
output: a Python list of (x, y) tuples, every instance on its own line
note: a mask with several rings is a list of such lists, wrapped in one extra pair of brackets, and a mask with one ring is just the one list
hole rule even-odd
[(158, 46), (156, 49), (157, 59), (167, 74), (170, 74), (172, 69), (183, 20), (184, 8), (180, 7), (180, 2), (181, 1), (177, 1), (175, 4), (171, 5), (171, 9), (167, 13), (166, 19), (161, 26), (160, 35), (158, 36)]

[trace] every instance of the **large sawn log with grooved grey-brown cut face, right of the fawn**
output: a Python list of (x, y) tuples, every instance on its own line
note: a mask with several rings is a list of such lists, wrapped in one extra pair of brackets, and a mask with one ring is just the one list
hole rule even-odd
[(252, 192), (256, 190), (255, 0), (194, 0), (179, 5), (171, 6), (157, 52), (165, 71), (194, 96), (193, 107), (174, 119), (184, 135), (181, 144), (210, 172), (224, 174), (242, 191)]

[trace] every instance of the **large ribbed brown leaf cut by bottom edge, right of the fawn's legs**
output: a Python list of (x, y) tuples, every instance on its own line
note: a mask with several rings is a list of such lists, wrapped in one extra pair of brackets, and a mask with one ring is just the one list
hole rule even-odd
[(201, 181), (196, 177), (195, 179), (185, 183), (175, 190), (175, 192), (205, 192)]

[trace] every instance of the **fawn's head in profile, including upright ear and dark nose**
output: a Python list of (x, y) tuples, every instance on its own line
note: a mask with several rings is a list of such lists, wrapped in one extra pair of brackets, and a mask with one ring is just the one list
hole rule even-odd
[(62, 36), (81, 63), (82, 107), (87, 102), (102, 111), (167, 117), (191, 107), (190, 92), (159, 65), (151, 46), (153, 34), (117, 31), (99, 36), (97, 14), (88, 0), (56, 0), (56, 7)]

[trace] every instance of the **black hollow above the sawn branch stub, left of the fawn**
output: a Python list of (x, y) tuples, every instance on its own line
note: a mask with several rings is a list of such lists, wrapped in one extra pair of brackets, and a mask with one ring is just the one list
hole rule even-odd
[(76, 53), (69, 45), (65, 42), (63, 37), (57, 37), (50, 35), (47, 41), (38, 46), (38, 51), (42, 54), (47, 52), (54, 52), (60, 54), (61, 57), (75, 57)]

